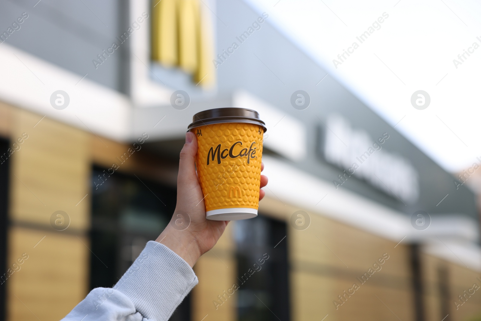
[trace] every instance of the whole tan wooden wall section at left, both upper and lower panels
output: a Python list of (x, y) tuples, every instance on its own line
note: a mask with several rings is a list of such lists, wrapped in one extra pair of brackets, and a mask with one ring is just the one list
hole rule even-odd
[[(24, 141), (10, 156), (8, 264), (28, 259), (5, 283), (7, 320), (60, 320), (88, 291), (90, 134), (21, 109), (10, 117), (12, 144)], [(50, 223), (57, 210), (70, 217), (64, 232)]]

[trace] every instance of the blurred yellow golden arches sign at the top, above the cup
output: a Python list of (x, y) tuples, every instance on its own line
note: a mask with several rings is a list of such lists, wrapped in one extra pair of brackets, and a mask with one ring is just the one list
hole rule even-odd
[(204, 88), (215, 84), (213, 30), (198, 0), (152, 0), (152, 60), (180, 66)]

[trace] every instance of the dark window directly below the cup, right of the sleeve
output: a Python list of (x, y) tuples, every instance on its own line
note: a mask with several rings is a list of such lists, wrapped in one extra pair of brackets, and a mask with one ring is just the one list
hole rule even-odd
[(289, 321), (286, 224), (259, 216), (234, 230), (239, 321)]

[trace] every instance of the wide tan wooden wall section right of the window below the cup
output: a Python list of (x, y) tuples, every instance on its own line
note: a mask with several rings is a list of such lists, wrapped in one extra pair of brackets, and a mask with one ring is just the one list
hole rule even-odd
[[(401, 320), (413, 319), (411, 268), (408, 247), (310, 213), (304, 231), (291, 226), (292, 213), (299, 210), (266, 198), (262, 213), (287, 221), (291, 262), (292, 320)], [(394, 247), (396, 246), (396, 247)], [(384, 253), (389, 259), (362, 284), (356, 278), (372, 267)], [(342, 306), (334, 305), (356, 283), (359, 289)], [(376, 297), (379, 296), (379, 298)], [(389, 307), (386, 308), (384, 303)], [(327, 319), (326, 319), (327, 320)], [(396, 319), (397, 320), (397, 319)]]

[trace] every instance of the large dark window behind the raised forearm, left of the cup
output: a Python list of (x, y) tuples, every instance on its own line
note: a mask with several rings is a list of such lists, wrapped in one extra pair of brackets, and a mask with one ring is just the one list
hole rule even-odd
[[(176, 190), (144, 178), (94, 167), (90, 288), (112, 287), (172, 217)], [(190, 320), (190, 295), (171, 320)]]

